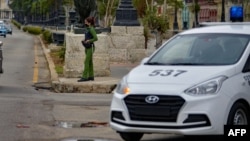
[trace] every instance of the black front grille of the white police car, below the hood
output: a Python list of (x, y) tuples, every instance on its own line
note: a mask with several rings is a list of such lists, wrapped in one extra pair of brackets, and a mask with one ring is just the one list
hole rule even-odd
[(124, 99), (131, 120), (176, 122), (179, 110), (185, 103), (183, 98), (155, 95), (159, 97), (159, 101), (149, 104), (145, 101), (147, 96), (149, 95), (129, 95)]

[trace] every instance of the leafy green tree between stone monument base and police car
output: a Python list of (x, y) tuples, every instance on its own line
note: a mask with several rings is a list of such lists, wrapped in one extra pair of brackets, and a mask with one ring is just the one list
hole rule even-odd
[[(174, 7), (173, 9), (183, 8), (182, 1), (178, 0), (134, 0), (133, 4), (138, 11), (139, 17), (144, 25), (144, 35), (146, 40), (149, 31), (156, 34), (156, 48), (162, 44), (163, 34), (169, 29), (169, 21), (167, 19), (166, 5)], [(164, 11), (162, 15), (157, 15), (157, 5), (163, 5)], [(147, 47), (146, 47), (147, 48)]]

